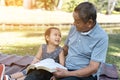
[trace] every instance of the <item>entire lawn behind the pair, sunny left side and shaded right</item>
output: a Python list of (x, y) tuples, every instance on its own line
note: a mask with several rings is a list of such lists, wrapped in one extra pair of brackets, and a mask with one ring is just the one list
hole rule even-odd
[[(58, 26), (62, 32), (62, 43), (68, 34), (69, 26)], [(35, 55), (39, 46), (44, 41), (45, 27), (30, 30), (16, 30), (16, 31), (0, 31), (0, 52), (4, 54), (17, 54), (17, 55)], [(115, 64), (119, 69), (120, 74), (120, 29), (117, 32), (107, 30), (109, 34), (109, 48), (107, 54), (107, 62)]]

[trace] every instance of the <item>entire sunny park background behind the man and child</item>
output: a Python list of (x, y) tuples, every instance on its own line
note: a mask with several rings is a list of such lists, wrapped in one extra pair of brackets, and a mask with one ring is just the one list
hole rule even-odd
[(120, 74), (120, 0), (0, 0), (0, 53), (34, 56), (51, 26), (60, 28), (63, 46), (72, 11), (83, 1), (97, 7), (97, 21), (109, 35), (107, 62)]

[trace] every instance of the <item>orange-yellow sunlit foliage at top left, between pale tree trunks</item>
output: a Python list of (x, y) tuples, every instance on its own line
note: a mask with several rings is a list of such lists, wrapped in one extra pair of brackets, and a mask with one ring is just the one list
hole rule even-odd
[[(30, 2), (30, 1), (29, 1)], [(58, 0), (36, 0), (36, 4), (26, 3), (31, 5), (32, 7), (42, 8), (45, 10), (54, 10), (57, 6)], [(24, 0), (5, 0), (6, 6), (23, 6)]]

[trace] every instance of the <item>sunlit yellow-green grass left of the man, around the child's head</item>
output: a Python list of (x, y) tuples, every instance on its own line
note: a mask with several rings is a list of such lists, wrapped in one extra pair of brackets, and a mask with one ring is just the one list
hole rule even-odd
[[(68, 29), (69, 27), (63, 27), (61, 29), (61, 33), (63, 35), (63, 40), (60, 44), (61, 46), (64, 43), (66, 35), (68, 34)], [(35, 55), (39, 49), (39, 46), (45, 43), (43, 35), (44, 31), (45, 27), (38, 30), (1, 30), (0, 52), (5, 54)]]

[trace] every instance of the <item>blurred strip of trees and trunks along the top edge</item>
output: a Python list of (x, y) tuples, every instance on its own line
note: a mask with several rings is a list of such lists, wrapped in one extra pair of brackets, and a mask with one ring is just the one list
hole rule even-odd
[(0, 0), (0, 3), (1, 6), (22, 6), (27, 9), (62, 10), (72, 12), (74, 7), (83, 1), (94, 3), (98, 12), (101, 13), (119, 14), (120, 11), (120, 0)]

